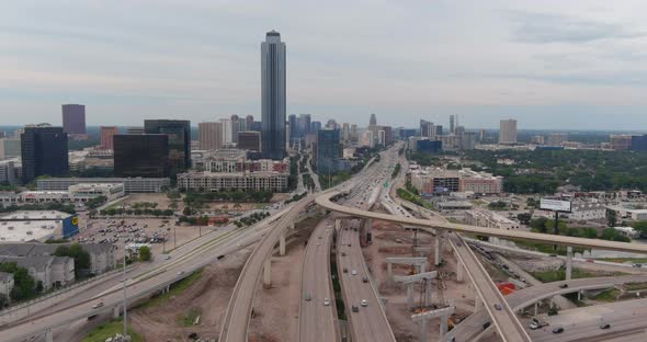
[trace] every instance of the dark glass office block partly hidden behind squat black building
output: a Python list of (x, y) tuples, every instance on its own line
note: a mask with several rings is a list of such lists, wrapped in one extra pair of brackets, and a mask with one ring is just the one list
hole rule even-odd
[(188, 119), (146, 119), (146, 134), (169, 136), (169, 164), (171, 174), (191, 168), (191, 123)]

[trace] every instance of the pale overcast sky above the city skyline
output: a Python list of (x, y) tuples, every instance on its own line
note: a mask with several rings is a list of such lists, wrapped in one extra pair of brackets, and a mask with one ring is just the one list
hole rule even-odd
[(260, 43), (287, 114), (417, 127), (647, 129), (647, 2), (21, 0), (0, 3), (0, 124), (260, 119)]

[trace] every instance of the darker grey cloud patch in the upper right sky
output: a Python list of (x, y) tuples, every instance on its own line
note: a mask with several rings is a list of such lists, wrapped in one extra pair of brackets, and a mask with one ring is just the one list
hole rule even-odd
[(589, 43), (601, 39), (626, 39), (645, 36), (623, 25), (558, 14), (511, 12), (514, 39), (522, 43)]

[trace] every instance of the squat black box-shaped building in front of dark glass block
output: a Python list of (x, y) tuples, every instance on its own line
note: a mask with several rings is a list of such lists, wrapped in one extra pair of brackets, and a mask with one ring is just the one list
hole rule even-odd
[(115, 135), (116, 176), (163, 178), (170, 174), (171, 136), (168, 134)]

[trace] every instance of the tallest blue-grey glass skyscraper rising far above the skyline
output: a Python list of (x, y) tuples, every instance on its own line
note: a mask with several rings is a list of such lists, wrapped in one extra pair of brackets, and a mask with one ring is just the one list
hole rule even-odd
[(285, 43), (276, 31), (261, 43), (261, 94), (263, 153), (269, 159), (285, 157)]

